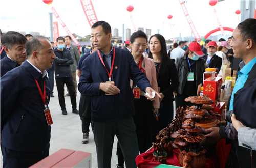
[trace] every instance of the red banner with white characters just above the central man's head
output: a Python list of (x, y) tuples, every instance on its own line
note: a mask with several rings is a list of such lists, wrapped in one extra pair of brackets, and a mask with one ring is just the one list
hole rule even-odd
[(80, 0), (84, 14), (86, 14), (87, 21), (92, 27), (98, 21), (93, 3), (91, 0)]

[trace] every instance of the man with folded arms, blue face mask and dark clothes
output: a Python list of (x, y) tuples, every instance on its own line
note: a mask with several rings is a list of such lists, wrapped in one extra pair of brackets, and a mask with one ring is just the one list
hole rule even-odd
[(70, 65), (74, 63), (73, 57), (69, 50), (65, 49), (65, 39), (63, 37), (57, 38), (57, 48), (54, 49), (56, 59), (55, 65), (55, 81), (58, 90), (59, 105), (61, 107), (62, 115), (67, 115), (65, 99), (64, 99), (64, 84), (69, 89), (70, 99), (72, 104), (72, 113), (79, 114), (76, 109), (76, 93), (75, 85), (72, 77)]

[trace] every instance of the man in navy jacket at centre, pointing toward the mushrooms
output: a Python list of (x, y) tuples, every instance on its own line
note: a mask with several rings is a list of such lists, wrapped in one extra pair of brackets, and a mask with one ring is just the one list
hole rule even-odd
[[(133, 121), (135, 108), (130, 79), (151, 97), (155, 91), (135, 64), (132, 54), (114, 48), (110, 43), (112, 34), (108, 23), (96, 22), (92, 26), (91, 37), (98, 50), (83, 61), (78, 89), (81, 94), (92, 95), (92, 130), (98, 167), (111, 166), (115, 135), (123, 151), (126, 167), (137, 167), (135, 158), (139, 150)], [(155, 93), (155, 98), (161, 97)]]

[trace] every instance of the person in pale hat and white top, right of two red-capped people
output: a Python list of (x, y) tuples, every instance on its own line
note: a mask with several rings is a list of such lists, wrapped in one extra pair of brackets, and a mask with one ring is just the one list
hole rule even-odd
[(221, 41), (220, 46), (217, 47), (216, 55), (222, 59), (222, 65), (219, 74), (222, 74), (223, 64), (230, 63), (226, 55), (228, 49), (230, 48), (231, 47), (228, 46), (228, 43), (226, 41)]

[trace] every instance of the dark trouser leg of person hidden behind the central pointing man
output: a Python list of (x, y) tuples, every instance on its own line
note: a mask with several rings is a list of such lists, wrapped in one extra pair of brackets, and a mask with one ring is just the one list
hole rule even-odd
[(91, 123), (91, 100), (92, 96), (81, 95), (79, 102), (79, 116), (82, 121), (82, 133), (88, 133)]

